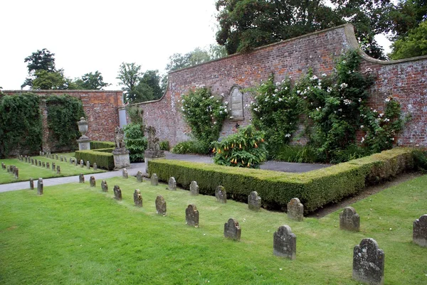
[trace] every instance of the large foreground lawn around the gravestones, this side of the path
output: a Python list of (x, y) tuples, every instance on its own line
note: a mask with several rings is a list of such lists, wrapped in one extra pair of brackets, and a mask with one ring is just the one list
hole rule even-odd
[[(385, 253), (385, 284), (427, 284), (427, 248), (412, 242), (412, 223), (427, 213), (427, 176), (352, 205), (361, 232), (339, 230), (339, 212), (320, 220), (288, 220), (211, 196), (190, 196), (167, 185), (107, 180), (108, 193), (89, 183), (0, 193), (0, 284), (359, 284), (352, 280), (353, 247), (366, 237)], [(122, 201), (112, 198), (120, 185)], [(133, 205), (142, 193), (143, 208)], [(167, 216), (156, 214), (163, 195)], [(194, 203), (199, 228), (185, 224)], [(236, 218), (241, 242), (226, 240)], [(273, 255), (273, 232), (290, 225), (297, 259)]]

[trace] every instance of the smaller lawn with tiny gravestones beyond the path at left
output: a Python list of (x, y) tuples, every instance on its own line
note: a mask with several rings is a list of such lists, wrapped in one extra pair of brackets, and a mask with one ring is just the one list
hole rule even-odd
[[(30, 178), (33, 178), (34, 180), (38, 178), (53, 178), (53, 177), (65, 177), (65, 176), (75, 176), (79, 175), (80, 173), (83, 174), (90, 174), (90, 173), (99, 173), (99, 172), (105, 172), (103, 170), (100, 170), (98, 168), (97, 171), (94, 171), (93, 168), (81, 168), (80, 166), (75, 166), (73, 164), (70, 164), (70, 157), (74, 157), (74, 153), (70, 154), (60, 154), (61, 156), (66, 156), (68, 158), (68, 162), (61, 162), (60, 160), (46, 158), (45, 156), (32, 156), (32, 158), (37, 159), (37, 161), (41, 160), (45, 163), (48, 162), (51, 166), (50, 169), (43, 168), (41, 166), (32, 165), (31, 163), (26, 163), (24, 161), (19, 161), (17, 158), (9, 158), (9, 159), (1, 159), (1, 162), (6, 164), (6, 166), (14, 165), (19, 168), (19, 178), (15, 179), (14, 174), (7, 172), (6, 170), (3, 170), (0, 168), (0, 184), (4, 183), (14, 183), (19, 181), (29, 181)], [(52, 163), (55, 163), (56, 166), (60, 166), (60, 174), (56, 174), (56, 171), (52, 170)]]

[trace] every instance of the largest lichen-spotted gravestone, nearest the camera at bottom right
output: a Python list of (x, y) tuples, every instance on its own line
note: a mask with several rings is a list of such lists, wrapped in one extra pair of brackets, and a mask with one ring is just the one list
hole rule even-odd
[(353, 279), (369, 285), (384, 284), (384, 252), (374, 239), (364, 239), (354, 247)]

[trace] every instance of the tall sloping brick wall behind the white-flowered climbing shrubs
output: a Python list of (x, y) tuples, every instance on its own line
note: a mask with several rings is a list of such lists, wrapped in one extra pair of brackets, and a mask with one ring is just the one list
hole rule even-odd
[[(305, 75), (308, 68), (315, 74), (330, 74), (334, 59), (346, 50), (358, 48), (353, 26), (346, 24), (336, 28), (311, 33), (288, 41), (266, 45), (251, 53), (230, 55), (227, 58), (196, 65), (169, 73), (165, 95), (157, 101), (139, 103), (144, 109), (145, 124), (154, 126), (160, 140), (169, 140), (172, 146), (189, 139), (190, 129), (179, 112), (181, 94), (192, 87), (206, 85), (214, 94), (224, 94), (230, 101), (230, 91), (234, 85), (241, 88), (254, 87), (274, 72), (276, 80), (285, 76), (297, 80)], [(400, 145), (427, 146), (427, 57), (384, 62), (374, 60), (359, 50), (362, 70), (371, 68), (378, 75), (373, 87), (371, 104), (379, 109), (384, 99), (393, 95), (399, 98), (405, 114), (411, 112), (412, 121), (399, 139)], [(243, 95), (243, 105), (253, 100), (251, 94)], [(251, 121), (248, 107), (243, 110), (244, 119), (226, 120), (221, 136), (236, 131), (236, 123), (245, 126)]]

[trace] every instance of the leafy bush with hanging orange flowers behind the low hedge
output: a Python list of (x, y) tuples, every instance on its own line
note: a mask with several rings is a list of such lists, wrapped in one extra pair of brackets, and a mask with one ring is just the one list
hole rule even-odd
[(214, 162), (222, 166), (259, 168), (267, 160), (265, 144), (263, 131), (248, 125), (216, 142)]

